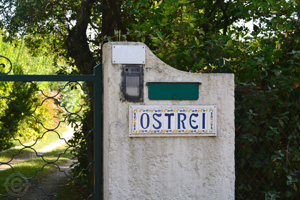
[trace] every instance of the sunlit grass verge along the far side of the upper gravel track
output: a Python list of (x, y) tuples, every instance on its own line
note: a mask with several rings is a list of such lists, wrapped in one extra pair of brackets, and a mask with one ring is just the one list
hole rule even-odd
[[(59, 128), (57, 128), (56, 131), (61, 135), (64, 131), (67, 131), (67, 129), (68, 128), (59, 127)], [(42, 148), (42, 147), (44, 147), (44, 146), (46, 146), (46, 145), (54, 142), (55, 140), (58, 140), (58, 139), (59, 139), (59, 137), (58, 137), (58, 135), (55, 132), (48, 132), (48, 133), (46, 133), (44, 135), (44, 137), (42, 139), (38, 139), (38, 141), (41, 141), (41, 142), (36, 143), (34, 146), (32, 146), (32, 148), (34, 148), (34, 149), (40, 149), (40, 148)], [(21, 146), (21, 144), (19, 143), (19, 141), (14, 140), (14, 142), (15, 142), (15, 146)], [(27, 143), (27, 142), (30, 142), (30, 141), (22, 141), (21, 140), (21, 142), (22, 142), (22, 144), (24, 144), (24, 143)], [(30, 144), (30, 145), (32, 145), (32, 144)], [(1, 153), (0, 154), (0, 161), (1, 162), (8, 162), (12, 158), (13, 154), (18, 154), (19, 153), (20, 149), (22, 149), (22, 147), (21, 148), (17, 148), (17, 149), (12, 149), (12, 150), (6, 151), (4, 153)], [(30, 152), (33, 152), (33, 150), (29, 149), (29, 148), (26, 148), (26, 149), (23, 149), (20, 152), (20, 155), (28, 154)]]

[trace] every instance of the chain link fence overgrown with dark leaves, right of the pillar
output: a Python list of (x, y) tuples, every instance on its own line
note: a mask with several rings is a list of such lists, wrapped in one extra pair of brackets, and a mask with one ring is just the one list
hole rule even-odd
[(235, 87), (235, 199), (300, 199), (299, 88)]

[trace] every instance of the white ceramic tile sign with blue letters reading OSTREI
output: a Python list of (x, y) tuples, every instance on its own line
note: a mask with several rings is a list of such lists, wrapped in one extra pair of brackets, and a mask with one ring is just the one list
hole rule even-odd
[(216, 105), (130, 105), (129, 137), (216, 136)]

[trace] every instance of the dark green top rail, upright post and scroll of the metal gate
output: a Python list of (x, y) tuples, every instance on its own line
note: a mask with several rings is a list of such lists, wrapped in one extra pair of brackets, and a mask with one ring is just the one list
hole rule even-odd
[[(9, 70), (9, 72), (10, 72), (12, 70), (11, 61), (7, 57), (1, 56), (1, 55), (0, 55), (0, 57), (3, 57), (10, 62), (10, 70)], [(4, 64), (0, 63), (0, 67), (1, 66), (3, 68), (5, 67)], [(8, 82), (22, 81), (22, 82), (31, 82), (31, 83), (32, 83), (32, 81), (49, 81), (49, 82), (91, 81), (91, 82), (94, 82), (94, 97), (91, 98), (91, 99), (94, 99), (94, 101), (95, 101), (94, 102), (94, 128), (92, 128), (92, 131), (94, 130), (94, 160), (90, 164), (94, 163), (95, 172), (94, 172), (94, 193), (92, 193), (91, 196), (94, 196), (94, 199), (102, 199), (102, 190), (101, 190), (101, 186), (102, 186), (102, 182), (103, 182), (102, 181), (102, 82), (101, 82), (102, 81), (102, 64), (99, 63), (97, 66), (94, 67), (93, 75), (8, 75), (9, 72), (0, 73), (0, 81), (8, 81)], [(28, 114), (25, 114), (25, 115), (28, 115)], [(7, 131), (7, 130), (0, 129), (0, 132), (2, 132), (2, 131)], [(70, 147), (72, 147), (72, 146), (70, 146)], [(16, 155), (16, 154), (14, 154), (14, 155)], [(9, 162), (7, 162), (7, 163), (9, 163)], [(54, 163), (54, 162), (56, 162), (56, 160), (53, 161), (52, 163)], [(2, 164), (5, 164), (5, 163), (0, 162), (0, 165), (2, 165)], [(13, 169), (13, 167), (12, 167), (12, 169)], [(73, 180), (73, 179), (74, 178), (70, 178), (69, 180)], [(30, 180), (30, 179), (24, 178), (24, 180)], [(67, 180), (67, 181), (69, 181), (69, 180)], [(33, 181), (33, 180), (31, 180), (31, 181)], [(36, 187), (37, 187), (37, 185), (36, 185)], [(45, 193), (45, 192), (43, 191), (43, 193)], [(52, 195), (46, 194), (47, 195), (46, 197), (54, 196), (55, 194), (52, 194)], [(9, 195), (5, 195), (5, 196), (9, 196)], [(0, 199), (5, 196), (0, 195)], [(88, 199), (90, 199), (91, 196), (89, 196)]]

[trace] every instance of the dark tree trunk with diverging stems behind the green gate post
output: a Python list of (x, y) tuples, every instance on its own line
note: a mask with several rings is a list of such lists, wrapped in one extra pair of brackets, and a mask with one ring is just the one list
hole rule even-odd
[[(76, 68), (82, 75), (93, 74), (93, 68), (98, 64), (89, 48), (88, 38), (86, 35), (89, 24), (88, 19), (91, 14), (91, 4), (94, 3), (94, 1), (95, 0), (81, 1), (81, 8), (77, 14), (76, 25), (71, 30), (68, 30), (69, 34), (65, 43), (69, 56), (74, 59)], [(122, 21), (120, 4), (118, 1), (102, 0), (101, 3), (104, 7), (104, 10), (102, 11), (101, 24), (102, 36), (114, 36), (117, 26), (120, 28), (122, 34), (126, 34), (128, 30)], [(127, 37), (127, 41), (132, 41), (132, 38)], [(102, 55), (102, 48), (100, 49), (100, 53)], [(91, 82), (86, 82), (86, 84), (88, 86), (89, 93), (94, 95), (94, 84)], [(94, 101), (91, 101), (91, 109), (83, 121), (88, 122), (91, 127), (94, 127)], [(83, 135), (87, 136), (89, 131), (91, 131), (91, 129), (86, 123), (83, 123)], [(88, 157), (91, 160), (94, 160), (94, 134), (92, 133), (89, 137), (85, 138), (85, 142), (88, 151)], [(89, 160), (89, 162), (91, 161)], [(94, 165), (90, 166), (91, 191), (94, 191), (94, 167)]]

